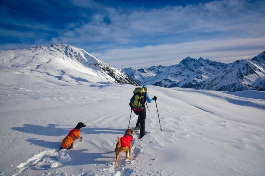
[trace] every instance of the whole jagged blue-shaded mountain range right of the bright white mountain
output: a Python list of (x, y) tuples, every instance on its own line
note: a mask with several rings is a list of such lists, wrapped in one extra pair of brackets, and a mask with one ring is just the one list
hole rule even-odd
[(187, 57), (172, 66), (124, 68), (139, 84), (218, 91), (265, 90), (265, 51), (230, 64)]

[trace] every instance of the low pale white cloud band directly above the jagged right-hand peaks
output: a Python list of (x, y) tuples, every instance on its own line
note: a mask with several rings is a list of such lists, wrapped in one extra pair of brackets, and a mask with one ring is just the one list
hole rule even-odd
[(265, 37), (193, 41), (179, 44), (162, 44), (138, 48), (122, 48), (92, 53), (98, 59), (116, 68), (149, 68), (178, 64), (190, 56), (198, 59), (231, 63), (240, 59), (251, 59), (265, 51)]

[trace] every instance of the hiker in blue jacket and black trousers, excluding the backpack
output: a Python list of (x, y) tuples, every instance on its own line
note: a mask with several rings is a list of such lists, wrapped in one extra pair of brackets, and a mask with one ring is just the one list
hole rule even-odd
[[(148, 103), (152, 103), (153, 101), (155, 101), (157, 99), (156, 96), (154, 96), (152, 99), (150, 98), (150, 96), (148, 95), (147, 93), (147, 86), (143, 85), (142, 86), (146, 92), (146, 95), (145, 95), (145, 100), (148, 102)], [(130, 99), (131, 101), (131, 99)], [(136, 127), (137, 129), (140, 128), (140, 138), (142, 138), (144, 135), (145, 135), (145, 117), (146, 117), (146, 109), (145, 109), (145, 106), (143, 109), (133, 109), (133, 112), (138, 115), (138, 119), (137, 119), (137, 122), (136, 122)]]

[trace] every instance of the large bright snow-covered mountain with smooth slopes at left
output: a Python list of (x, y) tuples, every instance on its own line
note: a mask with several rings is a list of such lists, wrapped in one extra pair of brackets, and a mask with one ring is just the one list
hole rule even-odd
[(74, 84), (112, 82), (138, 85), (121, 69), (111, 67), (81, 48), (63, 43), (0, 51), (0, 61), (2, 71), (18, 75), (38, 77), (44, 74)]

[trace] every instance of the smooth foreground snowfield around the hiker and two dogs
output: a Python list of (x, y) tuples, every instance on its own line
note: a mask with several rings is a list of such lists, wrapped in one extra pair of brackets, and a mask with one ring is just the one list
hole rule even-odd
[[(148, 86), (158, 111), (148, 104), (148, 133), (115, 168), (117, 136), (137, 120), (135, 86), (18, 73), (0, 70), (0, 175), (265, 175), (262, 91)], [(82, 142), (57, 152), (78, 122)]]

